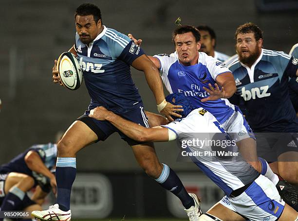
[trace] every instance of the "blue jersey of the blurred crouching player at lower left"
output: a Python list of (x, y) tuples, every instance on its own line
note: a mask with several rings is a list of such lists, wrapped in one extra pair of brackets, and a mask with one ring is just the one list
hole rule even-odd
[(0, 173), (19, 172), (34, 177), (32, 170), (28, 168), (25, 162), (25, 156), (29, 151), (38, 153), (42, 162), (49, 170), (52, 170), (56, 165), (57, 145), (52, 143), (38, 144), (28, 148), (25, 152), (20, 153), (7, 164), (0, 166)]

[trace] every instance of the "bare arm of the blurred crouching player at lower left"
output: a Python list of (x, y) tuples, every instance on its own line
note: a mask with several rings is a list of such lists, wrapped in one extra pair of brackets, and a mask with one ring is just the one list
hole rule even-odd
[(38, 153), (29, 151), (25, 155), (25, 162), (30, 170), (41, 173), (50, 179), (53, 192), (56, 194), (57, 183), (55, 175), (44, 165)]

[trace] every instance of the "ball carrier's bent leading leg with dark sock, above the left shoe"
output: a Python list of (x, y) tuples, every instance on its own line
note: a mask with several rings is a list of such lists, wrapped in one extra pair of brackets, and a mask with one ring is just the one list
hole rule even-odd
[(71, 189), (76, 175), (75, 154), (97, 139), (97, 135), (85, 122), (76, 120), (57, 145), (57, 204), (63, 211), (70, 209)]

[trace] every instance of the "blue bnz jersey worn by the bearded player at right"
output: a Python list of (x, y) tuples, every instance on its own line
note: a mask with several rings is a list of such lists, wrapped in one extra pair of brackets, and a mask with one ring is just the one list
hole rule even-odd
[[(282, 51), (262, 49), (248, 68), (238, 57), (228, 66), (237, 91), (232, 100), (244, 102), (246, 119), (255, 132), (298, 132), (296, 113), (289, 98), (288, 79), (296, 77), (297, 62)], [(289, 125), (291, 124), (291, 130)]]

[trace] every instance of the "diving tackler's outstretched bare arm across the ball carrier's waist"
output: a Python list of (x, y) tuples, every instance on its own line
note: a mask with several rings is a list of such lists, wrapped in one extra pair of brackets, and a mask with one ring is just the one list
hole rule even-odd
[(89, 117), (108, 120), (126, 136), (139, 142), (168, 141), (168, 129), (163, 127), (146, 128), (130, 120), (124, 119), (104, 107), (96, 107), (90, 111)]

